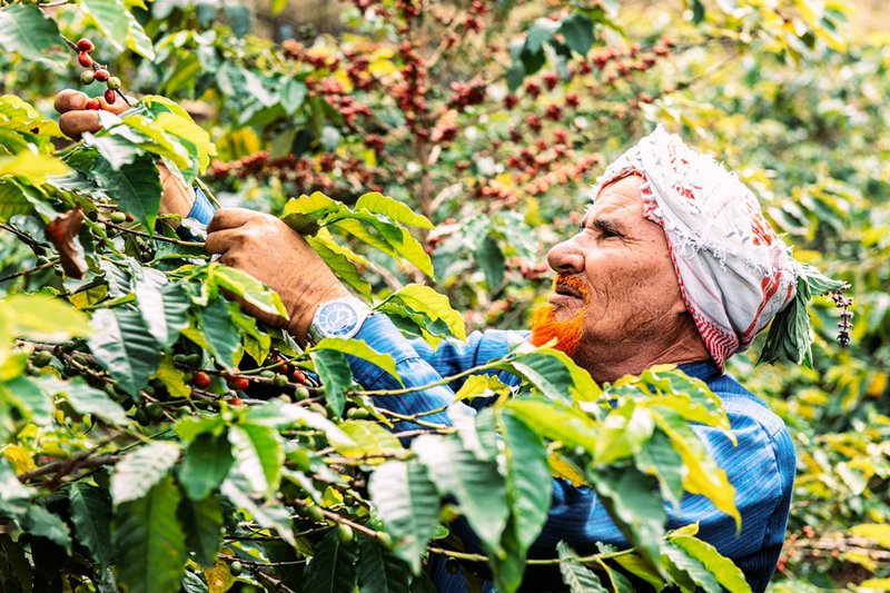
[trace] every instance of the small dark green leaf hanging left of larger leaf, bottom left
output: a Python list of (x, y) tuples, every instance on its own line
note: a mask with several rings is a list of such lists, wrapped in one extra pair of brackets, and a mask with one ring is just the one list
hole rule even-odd
[(115, 559), (111, 546), (111, 506), (101, 490), (82, 482), (71, 484), (68, 491), (71, 523), (78, 542), (89, 550), (90, 557), (102, 569)]

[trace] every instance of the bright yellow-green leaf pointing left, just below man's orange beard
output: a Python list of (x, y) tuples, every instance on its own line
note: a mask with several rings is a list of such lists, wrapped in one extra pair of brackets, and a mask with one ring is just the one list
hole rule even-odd
[(506, 404), (510, 412), (538, 435), (570, 447), (596, 447), (596, 425), (586, 414), (561, 402), (515, 399)]

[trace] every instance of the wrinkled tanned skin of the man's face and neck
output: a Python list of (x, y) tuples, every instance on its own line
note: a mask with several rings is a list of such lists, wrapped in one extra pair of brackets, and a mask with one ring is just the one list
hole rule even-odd
[(581, 325), (571, 355), (601, 382), (654, 364), (709, 358), (680, 295), (664, 231), (643, 216), (641, 182), (631, 176), (606, 186), (580, 231), (550, 250), (555, 289), (532, 328), (538, 342), (547, 323)]

